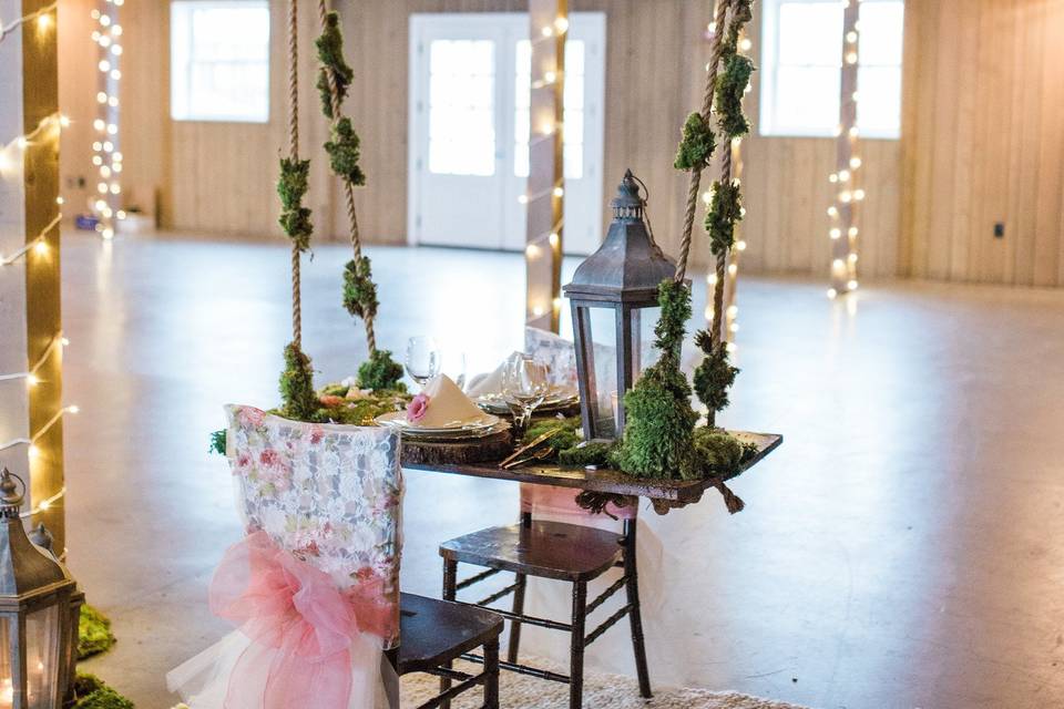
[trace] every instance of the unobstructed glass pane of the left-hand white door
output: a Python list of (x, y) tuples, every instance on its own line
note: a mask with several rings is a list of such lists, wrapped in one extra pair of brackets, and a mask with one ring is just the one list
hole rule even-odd
[(495, 174), (491, 40), (433, 40), (429, 47), (429, 172)]

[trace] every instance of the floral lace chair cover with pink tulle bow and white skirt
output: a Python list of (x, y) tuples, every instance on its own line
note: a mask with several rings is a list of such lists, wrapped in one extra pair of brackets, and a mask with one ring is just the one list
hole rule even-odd
[(166, 676), (192, 709), (385, 709), (398, 678), (402, 473), (385, 429), (226, 407), (247, 536), (211, 583), (238, 627)]

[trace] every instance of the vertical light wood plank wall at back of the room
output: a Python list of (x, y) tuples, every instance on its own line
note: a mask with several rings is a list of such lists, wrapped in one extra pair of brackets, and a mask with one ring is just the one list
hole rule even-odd
[[(284, 144), (283, 2), (274, 0), (272, 121), (262, 126), (174, 123), (168, 111), (168, 3), (123, 6), (125, 182), (135, 198), (160, 204), (165, 226), (196, 232), (278, 235), (277, 150)], [(652, 191), (651, 215), (663, 245), (678, 242), (685, 184), (672, 169), (678, 126), (700, 101), (709, 2), (572, 0), (573, 11), (607, 16), (604, 195), (625, 167)], [(408, 30), (411, 12), (512, 11), (526, 0), (340, 0), (356, 81), (348, 107), (364, 136), (369, 185), (358, 191), (364, 234), (406, 243)], [(326, 126), (309, 76), (316, 18), (304, 11), (304, 150)], [(88, 14), (90, 0), (65, 0)], [(759, 18), (751, 23), (758, 53)], [(1058, 68), (1064, 52), (1061, 0), (909, 0), (903, 134), (864, 141), (862, 277), (915, 277), (1016, 284), (1064, 282), (1064, 114)], [(91, 43), (84, 42), (86, 52)], [(62, 56), (63, 109), (92, 110), (90, 59)], [(90, 71), (85, 71), (85, 68)], [(65, 69), (64, 69), (65, 68)], [(80, 73), (79, 73), (80, 72)], [(88, 76), (88, 80), (85, 78)], [(822, 275), (829, 257), (830, 140), (757, 135), (758, 75), (747, 97), (755, 131), (744, 143), (747, 196), (744, 273)], [(91, 141), (91, 113), (69, 141)], [(129, 126), (134, 126), (129, 130)], [(76, 131), (84, 130), (82, 138)], [(64, 146), (68, 137), (64, 136)], [(80, 168), (63, 165), (64, 176)], [(80, 169), (88, 173), (85, 169)], [(313, 176), (318, 238), (344, 238), (342, 199)], [(90, 183), (91, 184), (91, 183)], [(64, 185), (64, 191), (69, 187)], [(903, 194), (904, 193), (904, 194)], [(66, 195), (78, 198), (76, 192)], [(995, 220), (1006, 237), (990, 237)], [(696, 239), (695, 263), (707, 263)]]

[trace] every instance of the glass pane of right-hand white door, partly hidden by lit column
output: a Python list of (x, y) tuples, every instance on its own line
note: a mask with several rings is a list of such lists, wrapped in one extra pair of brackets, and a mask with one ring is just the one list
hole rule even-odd
[[(565, 179), (584, 175), (584, 42), (565, 42), (564, 143)], [(515, 177), (529, 176), (529, 97), (532, 90), (532, 49), (529, 40), (516, 44), (514, 76), (514, 160)]]

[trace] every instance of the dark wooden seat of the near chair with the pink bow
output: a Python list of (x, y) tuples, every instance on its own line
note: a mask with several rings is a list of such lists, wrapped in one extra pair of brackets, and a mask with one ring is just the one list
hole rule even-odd
[(399, 674), (424, 672), (502, 633), (502, 617), (460, 603), (400, 595)]

